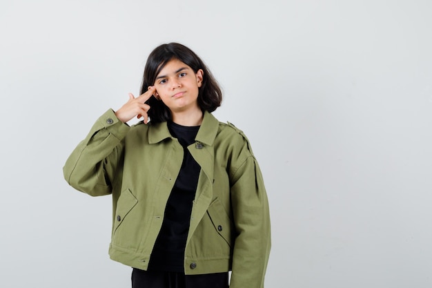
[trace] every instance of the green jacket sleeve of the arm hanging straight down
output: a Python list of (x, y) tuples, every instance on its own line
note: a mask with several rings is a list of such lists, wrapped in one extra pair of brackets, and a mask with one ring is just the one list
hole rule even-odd
[(231, 203), (237, 237), (231, 288), (263, 288), (271, 249), (271, 227), (264, 180), (246, 136), (239, 166), (231, 178)]

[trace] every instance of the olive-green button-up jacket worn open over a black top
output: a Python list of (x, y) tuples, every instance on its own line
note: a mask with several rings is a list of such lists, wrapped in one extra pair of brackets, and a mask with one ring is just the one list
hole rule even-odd
[[(232, 269), (231, 288), (264, 287), (270, 216), (262, 173), (246, 136), (206, 112), (188, 150), (201, 172), (185, 273)], [(92, 196), (112, 194), (112, 260), (147, 269), (183, 154), (166, 122), (128, 126), (112, 110), (72, 152), (63, 167), (66, 181)]]

